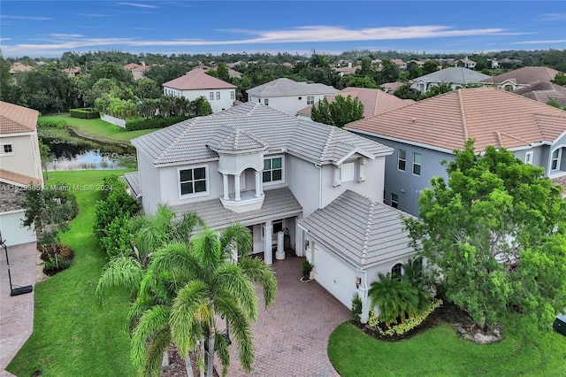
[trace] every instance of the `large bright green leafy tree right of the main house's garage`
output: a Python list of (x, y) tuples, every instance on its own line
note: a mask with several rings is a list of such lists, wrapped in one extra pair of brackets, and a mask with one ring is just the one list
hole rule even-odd
[(566, 199), (538, 166), (509, 150), (455, 150), (406, 219), (446, 296), (492, 326), (511, 308), (548, 326), (566, 305)]

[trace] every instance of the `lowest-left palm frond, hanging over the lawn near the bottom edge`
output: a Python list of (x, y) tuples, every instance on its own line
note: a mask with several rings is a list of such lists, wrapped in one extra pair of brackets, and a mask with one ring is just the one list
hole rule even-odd
[(169, 326), (171, 310), (163, 305), (149, 308), (142, 315), (132, 335), (130, 357), (138, 369), (142, 368), (146, 358), (146, 346), (149, 338)]

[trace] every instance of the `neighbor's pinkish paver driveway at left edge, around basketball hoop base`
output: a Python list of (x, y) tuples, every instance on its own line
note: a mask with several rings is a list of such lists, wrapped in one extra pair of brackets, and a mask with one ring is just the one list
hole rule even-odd
[[(4, 235), (5, 236), (5, 235)], [(35, 285), (35, 243), (8, 246), (11, 284)], [(0, 377), (10, 376), (4, 368), (34, 330), (34, 292), (10, 296), (10, 281), (4, 248), (0, 247)]]

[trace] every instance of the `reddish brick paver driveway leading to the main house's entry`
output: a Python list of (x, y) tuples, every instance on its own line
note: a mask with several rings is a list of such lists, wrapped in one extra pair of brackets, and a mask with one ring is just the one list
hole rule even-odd
[[(340, 304), (316, 281), (301, 282), (302, 258), (274, 260), (278, 292), (275, 304), (265, 310), (261, 292), (257, 322), (252, 323), (256, 358), (249, 376), (338, 376), (326, 353), (328, 337), (350, 319)], [(241, 370), (236, 344), (230, 346), (228, 376)], [(218, 364), (218, 358), (217, 358)], [(217, 365), (217, 370), (222, 369)]]

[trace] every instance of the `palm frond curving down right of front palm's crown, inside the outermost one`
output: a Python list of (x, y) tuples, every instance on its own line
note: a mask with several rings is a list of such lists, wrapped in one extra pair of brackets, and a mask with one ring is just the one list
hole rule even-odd
[(226, 262), (218, 265), (210, 285), (210, 289), (213, 289), (218, 296), (232, 296), (247, 319), (257, 319), (256, 289), (240, 265)]

